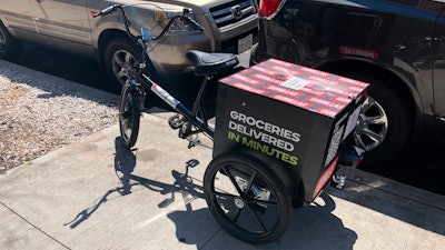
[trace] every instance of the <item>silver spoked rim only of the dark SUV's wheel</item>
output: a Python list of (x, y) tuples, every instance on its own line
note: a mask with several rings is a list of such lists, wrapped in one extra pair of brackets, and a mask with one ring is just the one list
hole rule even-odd
[(379, 146), (388, 131), (388, 118), (383, 107), (372, 97), (362, 106), (357, 127), (354, 132), (355, 143), (366, 151)]

